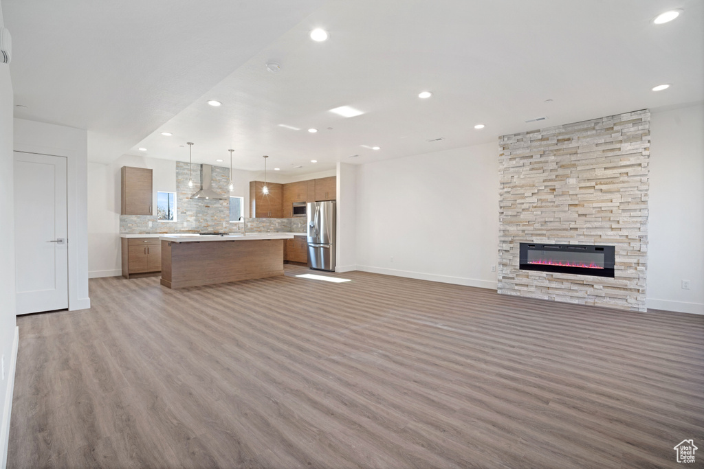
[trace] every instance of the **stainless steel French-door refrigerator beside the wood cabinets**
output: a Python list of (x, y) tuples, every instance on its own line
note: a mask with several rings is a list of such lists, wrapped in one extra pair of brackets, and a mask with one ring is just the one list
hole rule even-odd
[(309, 202), (308, 215), (308, 267), (318, 270), (335, 270), (335, 203)]

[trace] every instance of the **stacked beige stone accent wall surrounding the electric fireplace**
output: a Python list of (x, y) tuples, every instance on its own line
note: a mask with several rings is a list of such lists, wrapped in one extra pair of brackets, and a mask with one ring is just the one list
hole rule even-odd
[[(498, 293), (646, 311), (650, 112), (499, 138)], [(615, 245), (615, 278), (526, 271), (519, 243)]]

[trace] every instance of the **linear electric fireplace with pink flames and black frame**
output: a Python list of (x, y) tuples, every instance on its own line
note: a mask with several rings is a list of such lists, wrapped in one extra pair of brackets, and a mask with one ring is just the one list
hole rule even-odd
[(521, 269), (614, 277), (614, 246), (520, 244)]

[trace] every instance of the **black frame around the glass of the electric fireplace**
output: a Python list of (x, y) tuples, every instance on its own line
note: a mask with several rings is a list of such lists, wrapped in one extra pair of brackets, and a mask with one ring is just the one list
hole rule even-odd
[[(589, 267), (556, 266), (550, 264), (528, 264), (529, 250), (562, 251), (562, 252), (590, 252), (604, 255), (604, 268), (591, 269)], [(520, 243), (519, 269), (542, 272), (558, 272), (560, 274), (577, 274), (597, 277), (615, 277), (616, 264), (615, 246), (598, 246), (583, 244), (540, 244)]]

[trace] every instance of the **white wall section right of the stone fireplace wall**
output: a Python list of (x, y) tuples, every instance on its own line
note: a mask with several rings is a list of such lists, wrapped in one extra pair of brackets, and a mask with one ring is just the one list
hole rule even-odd
[(646, 304), (704, 314), (704, 105), (651, 113), (649, 199)]

